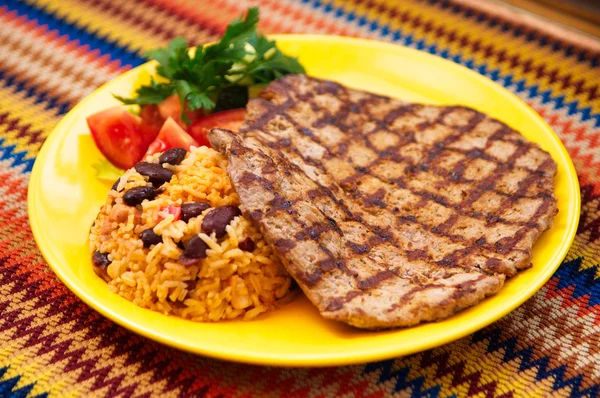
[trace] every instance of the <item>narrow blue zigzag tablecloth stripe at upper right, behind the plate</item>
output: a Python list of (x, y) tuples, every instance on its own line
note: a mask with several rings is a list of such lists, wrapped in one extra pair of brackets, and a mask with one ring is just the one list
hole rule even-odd
[[(323, 6), (320, 0), (300, 0), (302, 3), (311, 6), (314, 9), (319, 9), (320, 11), (324, 11), (327, 14), (334, 15), (337, 19), (346, 20), (348, 22), (353, 22), (357, 20), (357, 16), (354, 12), (347, 12), (341, 7), (336, 7), (331, 4), (327, 4), (327, 6)], [(365, 17), (358, 18), (358, 21), (361, 21)], [(414, 47), (418, 50), (424, 50), (431, 54), (441, 56), (448, 60), (454, 61), (458, 64), (464, 65), (469, 69), (475, 70), (480, 74), (487, 76), (488, 78), (494, 80), (497, 83), (502, 84), (504, 87), (508, 89), (512, 89), (514, 92), (523, 94), (528, 96), (529, 98), (535, 98), (539, 95), (546, 101), (545, 105), (553, 105), (555, 109), (563, 109), (567, 108), (568, 116), (580, 116), (582, 122), (586, 122), (588, 120), (594, 121), (595, 127), (600, 127), (600, 114), (593, 114), (591, 107), (580, 107), (579, 101), (575, 100), (569, 103), (565, 102), (564, 96), (553, 97), (551, 90), (546, 90), (539, 92), (540, 88), (538, 85), (527, 86), (526, 80), (516, 80), (514, 75), (508, 74), (505, 75), (501, 72), (500, 69), (488, 69), (486, 64), (476, 64), (474, 58), (463, 58), (460, 54), (451, 54), (449, 49), (438, 49), (435, 44), (428, 45), (424, 39), (416, 40), (412, 35), (405, 34), (402, 30), (392, 30), (388, 25), (380, 25), (377, 21), (368, 21), (365, 19), (365, 24), (369, 25), (369, 30), (372, 32), (378, 32), (380, 34), (384, 34), (388, 36), (392, 35), (392, 39), (395, 42), (399, 42), (400, 44), (404, 44), (408, 47)], [(360, 25), (360, 22), (359, 22)], [(363, 24), (364, 25), (364, 24)], [(504, 29), (504, 28), (503, 28)], [(505, 30), (509, 30), (508, 26), (506, 26)], [(567, 55), (573, 54), (573, 48), (566, 49)], [(537, 95), (532, 95), (531, 93), (538, 93)]]

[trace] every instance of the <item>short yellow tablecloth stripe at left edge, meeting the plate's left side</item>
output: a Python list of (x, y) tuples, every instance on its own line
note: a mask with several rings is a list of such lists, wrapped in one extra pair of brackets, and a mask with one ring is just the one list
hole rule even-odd
[[(27, 97), (23, 92), (17, 92), (11, 87), (0, 85), (0, 112), (7, 112), (9, 120), (19, 119), (19, 127), (30, 124), (30, 131), (40, 131), (40, 141), (45, 139), (56, 125), (60, 116), (55, 109), (48, 110), (45, 104), (35, 103), (36, 99)], [(10, 130), (5, 124), (0, 124), (0, 136), (5, 145), (15, 145), (16, 152), (27, 152), (26, 159), (34, 158), (42, 146), (41, 142), (29, 143), (28, 137), (17, 137), (18, 131)]]

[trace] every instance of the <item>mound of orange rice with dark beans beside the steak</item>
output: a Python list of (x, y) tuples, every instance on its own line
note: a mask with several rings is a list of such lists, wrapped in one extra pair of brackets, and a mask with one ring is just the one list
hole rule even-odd
[(113, 185), (90, 231), (111, 291), (193, 321), (251, 319), (289, 296), (291, 278), (241, 214), (226, 167), (211, 148), (175, 148)]

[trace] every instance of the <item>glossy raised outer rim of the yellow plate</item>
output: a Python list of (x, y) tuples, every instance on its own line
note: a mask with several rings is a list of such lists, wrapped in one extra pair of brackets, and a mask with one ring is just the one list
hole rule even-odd
[[(41, 178), (41, 169), (43, 164), (45, 163), (45, 159), (49, 155), (49, 147), (51, 144), (61, 138), (61, 134), (59, 134), (62, 130), (65, 130), (65, 127), (68, 126), (69, 123), (75, 120), (75, 116), (80, 113), (80, 109), (86, 107), (88, 103), (93, 102), (94, 98), (99, 94), (99, 92), (103, 91), (105, 87), (108, 85), (112, 85), (118, 83), (120, 81), (128, 81), (130, 76), (137, 75), (139, 72), (148, 67), (148, 64), (155, 63), (155, 61), (149, 61), (147, 63), (141, 64), (135, 68), (132, 68), (116, 78), (109, 80), (108, 82), (102, 84), (100, 87), (96, 88), (90, 94), (88, 94), (85, 98), (83, 98), (79, 103), (77, 103), (52, 129), (52, 132), (48, 135), (47, 139), (44, 141), (41, 149), (39, 150), (34, 166), (32, 168), (30, 174), (30, 180), (28, 183), (28, 195), (27, 195), (27, 214), (29, 223), (31, 226), (31, 230), (36, 241), (36, 246), (42, 253), (46, 263), (50, 266), (54, 274), (64, 283), (67, 288), (75, 294), (79, 299), (81, 299), (86, 305), (90, 306), (95, 311), (99, 312), (102, 316), (108, 318), (112, 322), (119, 324), (126, 329), (142, 335), (146, 338), (149, 338), (153, 341), (159, 342), (161, 344), (168, 345), (170, 347), (174, 347), (177, 349), (181, 349), (187, 352), (192, 352), (195, 354), (205, 355), (213, 358), (242, 362), (248, 364), (255, 365), (269, 365), (269, 366), (342, 366), (342, 365), (351, 365), (351, 364), (362, 364), (366, 362), (379, 361), (389, 358), (394, 358), (399, 355), (410, 355), (416, 352), (425, 351), (434, 347), (438, 347), (444, 344), (451, 343), (456, 341), (462, 337), (465, 337), (473, 332), (483, 329), (484, 327), (496, 322), (498, 319), (504, 317), (508, 313), (515, 310), (517, 307), (522, 305), (525, 301), (531, 298), (536, 292), (538, 292), (546, 282), (551, 278), (551, 276), (556, 272), (563, 259), (568, 254), (568, 251), (575, 239), (575, 235), (577, 232), (577, 228), (580, 220), (580, 210), (581, 210), (581, 190), (579, 186), (579, 180), (577, 176), (577, 172), (573, 161), (565, 148), (564, 144), (554, 132), (554, 130), (546, 123), (546, 121), (535, 111), (533, 110), (527, 103), (525, 103), (521, 98), (501, 86), (500, 84), (492, 81), (491, 79), (481, 75), (478, 72), (475, 72), (463, 65), (457, 64), (453, 61), (444, 59), (440, 56), (430, 54), (425, 51), (417, 50), (411, 47), (407, 47), (404, 45), (382, 42), (372, 39), (363, 39), (363, 38), (352, 38), (345, 36), (335, 36), (335, 35), (320, 35), (320, 34), (278, 34), (278, 35), (268, 35), (269, 38), (278, 40), (278, 39), (286, 39), (286, 40), (303, 40), (303, 41), (314, 41), (314, 42), (323, 42), (323, 41), (331, 41), (331, 42), (349, 42), (358, 45), (366, 45), (366, 46), (374, 46), (382, 49), (390, 49), (393, 50), (395, 48), (401, 48), (402, 51), (408, 51), (413, 53), (418, 53), (418, 56), (422, 56), (431, 60), (431, 62), (435, 62), (438, 64), (443, 64), (444, 68), (454, 69), (457, 73), (466, 73), (471, 75), (471, 77), (479, 80), (480, 84), (484, 84), (490, 86), (495, 91), (504, 94), (505, 96), (512, 97), (513, 100), (516, 100), (517, 103), (525, 107), (533, 117), (537, 118), (538, 121), (541, 121), (542, 124), (552, 133), (556, 144), (558, 144), (558, 148), (560, 149), (560, 154), (563, 157), (563, 160), (566, 162), (566, 170), (564, 170), (565, 175), (567, 176), (567, 186), (569, 187), (569, 192), (571, 196), (573, 196), (573, 201), (567, 204), (567, 207), (575, 214), (575, 219), (569, 223), (567, 231), (565, 232), (565, 240), (563, 240), (562, 244), (558, 248), (558, 250), (552, 256), (552, 259), (556, 259), (556, 264), (552, 267), (545, 267), (538, 272), (538, 278), (536, 278), (535, 285), (527, 289), (526, 293), (522, 293), (519, 295), (518, 299), (516, 299), (510, 305), (502, 307), (500, 311), (496, 311), (493, 315), (486, 318), (483, 322), (479, 322), (473, 325), (467, 325), (464, 328), (451, 328), (452, 331), (446, 334), (443, 339), (429, 339), (424, 343), (410, 346), (406, 348), (406, 346), (394, 346), (387, 347), (386, 349), (374, 349), (369, 352), (361, 352), (360, 354), (350, 354), (340, 356), (339, 354), (332, 354), (330, 356), (321, 356), (318, 358), (305, 358), (305, 357), (288, 357), (281, 358), (278, 356), (268, 355), (268, 353), (262, 353), (261, 355), (252, 354), (251, 352), (244, 351), (232, 351), (232, 352), (224, 352), (222, 350), (212, 350), (210, 349), (210, 345), (206, 344), (203, 347), (198, 347), (195, 345), (189, 344), (181, 344), (178, 341), (169, 339), (168, 336), (160, 332), (156, 332), (153, 330), (146, 329), (143, 325), (139, 325), (135, 322), (129, 322), (128, 319), (119, 316), (118, 311), (113, 311), (108, 307), (103, 306), (100, 302), (95, 300), (93, 297), (86, 294), (85, 289), (79, 289), (77, 287), (76, 281), (71, 281), (68, 276), (65, 276), (59, 271), (59, 267), (55, 267), (53, 264), (59, 262), (54, 252), (50, 250), (49, 245), (40, 245), (40, 241), (43, 241), (43, 227), (41, 224), (40, 218), (37, 216), (37, 210), (31, 211), (32, 209), (36, 209), (36, 197), (35, 193), (37, 192), (37, 188), (39, 187), (39, 180)], [(558, 164), (558, 162), (557, 162)], [(551, 260), (552, 260), (551, 259)], [(480, 304), (476, 304), (480, 305)], [(148, 310), (150, 311), (150, 310)], [(451, 318), (448, 318), (451, 319)], [(442, 320), (443, 322), (444, 320)], [(191, 321), (190, 321), (191, 322)], [(375, 332), (377, 333), (377, 332)], [(375, 347), (374, 347), (375, 348)], [(267, 355), (265, 355), (267, 354)]]

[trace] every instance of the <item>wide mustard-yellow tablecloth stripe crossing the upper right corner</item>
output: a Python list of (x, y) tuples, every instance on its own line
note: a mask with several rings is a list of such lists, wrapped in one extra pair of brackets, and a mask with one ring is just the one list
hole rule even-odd
[[(414, 36), (416, 40), (425, 40), (427, 45), (435, 44), (437, 48), (448, 48), (454, 54), (460, 53), (463, 58), (473, 58), (477, 63), (485, 63), (488, 69), (499, 69), (504, 75), (513, 75), (515, 81), (525, 78), (528, 85), (538, 85), (540, 91), (552, 89), (555, 96), (558, 93), (564, 94), (567, 101), (578, 100), (583, 106), (591, 105), (594, 112), (600, 111), (600, 101), (589, 101), (588, 93), (575, 94), (575, 87), (562, 88), (563, 83), (561, 81), (551, 84), (549, 83), (549, 77), (537, 77), (536, 71), (523, 72), (522, 60), (529, 59), (532, 61), (532, 68), (545, 65), (546, 71), (558, 69), (561, 77), (571, 75), (571, 81), (583, 79), (585, 81), (584, 88), (600, 84), (600, 74), (588, 64), (577, 62), (574, 57), (564, 57), (560, 52), (553, 52), (548, 46), (540, 47), (536, 41), (529, 43), (523, 36), (515, 38), (511, 33), (502, 32), (498, 27), (490, 28), (473, 20), (461, 18), (449, 11), (440, 10), (427, 3), (374, 1), (374, 3), (385, 4), (389, 9), (395, 9), (399, 13), (408, 12), (412, 19), (418, 16), (421, 21), (421, 25), (418, 27), (413, 27), (409, 23), (402, 23), (397, 17), (390, 18), (387, 13), (378, 13), (367, 9), (364, 5), (356, 5), (352, 1), (325, 0), (325, 3), (341, 7), (346, 12), (352, 11), (359, 16), (367, 16), (372, 20), (377, 20), (382, 26), (389, 25), (392, 31), (400, 29), (404, 34)], [(520, 65), (511, 67), (510, 60), (498, 62), (495, 57), (486, 58), (482, 52), (474, 52), (470, 46), (461, 47), (458, 42), (450, 43), (446, 35), (436, 36), (435, 29), (426, 32), (423, 25), (427, 21), (430, 21), (435, 27), (443, 26), (446, 31), (455, 31), (458, 37), (466, 35), (470, 41), (479, 40), (482, 46), (492, 46), (496, 52), (504, 49), (509, 59), (518, 55)]]

